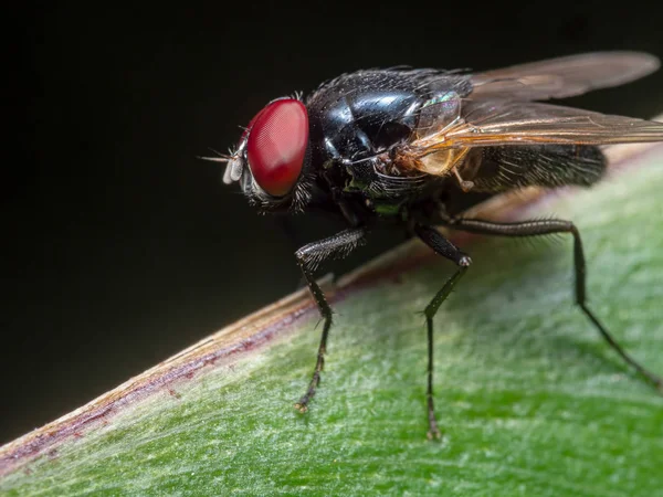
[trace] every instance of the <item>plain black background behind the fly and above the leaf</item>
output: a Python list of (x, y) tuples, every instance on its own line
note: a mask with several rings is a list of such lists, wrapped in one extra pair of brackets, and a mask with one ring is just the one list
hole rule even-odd
[[(662, 2), (59, 3), (11, 20), (0, 443), (295, 289), (293, 241), (194, 158), (270, 99), (361, 67), (663, 56)], [(663, 72), (568, 103), (651, 117)]]

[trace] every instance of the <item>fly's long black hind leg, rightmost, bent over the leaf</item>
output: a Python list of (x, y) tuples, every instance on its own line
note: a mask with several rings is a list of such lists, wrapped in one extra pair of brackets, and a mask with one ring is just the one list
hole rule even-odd
[(663, 379), (641, 366), (635, 359), (629, 356), (624, 349), (614, 340), (608, 329), (589, 309), (586, 302), (586, 263), (585, 252), (582, 251), (582, 241), (576, 225), (570, 221), (561, 220), (540, 220), (522, 221), (515, 223), (495, 223), (475, 219), (451, 219), (445, 223), (454, 230), (466, 231), (470, 233), (501, 235), (501, 236), (539, 236), (552, 233), (570, 233), (573, 236), (573, 266), (576, 274), (576, 304), (582, 313), (589, 318), (603, 339), (612, 349), (640, 374), (663, 393)]

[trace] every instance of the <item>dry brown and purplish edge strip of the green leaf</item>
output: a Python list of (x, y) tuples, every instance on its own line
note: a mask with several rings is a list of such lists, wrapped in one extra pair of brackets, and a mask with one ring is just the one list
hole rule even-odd
[[(659, 116), (657, 119), (663, 119)], [(611, 176), (628, 173), (629, 165), (640, 156), (661, 148), (661, 144), (615, 145), (606, 148), (611, 165)], [(544, 191), (522, 190), (517, 194), (501, 195), (477, 205), (467, 215), (491, 220), (508, 220), (523, 215), (556, 195), (568, 194), (572, 189)], [(475, 235), (454, 233), (455, 243), (466, 243)], [(330, 302), (338, 302), (371, 284), (391, 278), (417, 267), (434, 255), (418, 240), (389, 251), (336, 282), (332, 275), (320, 279)], [(179, 382), (190, 381), (207, 368), (229, 366), (252, 350), (267, 347), (276, 338), (292, 332), (292, 324), (315, 313), (308, 290), (303, 288), (276, 303), (260, 309), (215, 334), (200, 340), (181, 352), (138, 374), (119, 387), (104, 393), (87, 404), (0, 447), (0, 477), (13, 473), (35, 457), (46, 454), (67, 438), (78, 438), (108, 424), (123, 406), (136, 403), (158, 392), (168, 391)]]

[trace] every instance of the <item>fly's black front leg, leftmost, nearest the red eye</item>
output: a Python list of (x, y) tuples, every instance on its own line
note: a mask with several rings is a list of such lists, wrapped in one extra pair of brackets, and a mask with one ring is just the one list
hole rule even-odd
[(295, 408), (299, 412), (306, 412), (308, 410), (308, 401), (315, 395), (315, 389), (320, 382), (320, 371), (325, 366), (325, 351), (327, 349), (327, 336), (329, 335), (329, 328), (332, 327), (332, 308), (325, 299), (325, 294), (322, 288), (315, 282), (313, 273), (319, 266), (319, 264), (329, 258), (343, 258), (347, 256), (356, 246), (364, 243), (366, 236), (366, 230), (362, 228), (352, 228), (344, 230), (340, 233), (329, 236), (328, 239), (319, 240), (308, 245), (304, 245), (297, 252), (297, 264), (302, 268), (308, 289), (313, 295), (313, 298), (320, 311), (324, 319), (323, 336), (320, 338), (320, 345), (318, 347), (317, 362), (315, 370), (313, 371), (313, 378), (308, 384), (306, 393), (295, 404)]

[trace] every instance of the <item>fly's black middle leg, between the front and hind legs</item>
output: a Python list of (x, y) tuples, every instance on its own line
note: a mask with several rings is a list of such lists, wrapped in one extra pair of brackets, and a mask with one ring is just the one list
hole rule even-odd
[(429, 432), (428, 437), (440, 438), (440, 429), (438, 427), (438, 421), (435, 420), (435, 409), (433, 405), (433, 317), (438, 313), (438, 309), (442, 305), (451, 290), (455, 286), (455, 284), (461, 279), (461, 277), (472, 264), (472, 260), (467, 254), (463, 253), (460, 248), (453, 245), (449, 240), (446, 240), (442, 234), (430, 228), (415, 225), (414, 232), (417, 235), (429, 245), (435, 253), (442, 255), (443, 257), (449, 258), (459, 268), (456, 272), (444, 283), (444, 286), (438, 294), (433, 297), (430, 304), (425, 307), (423, 314), (425, 315), (425, 325), (428, 329), (428, 388), (425, 391), (425, 398), (428, 403), (428, 419), (429, 419)]

